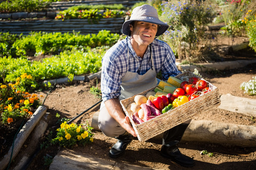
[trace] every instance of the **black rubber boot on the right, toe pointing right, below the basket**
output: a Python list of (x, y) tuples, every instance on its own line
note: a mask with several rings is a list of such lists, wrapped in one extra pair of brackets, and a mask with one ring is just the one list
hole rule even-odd
[(177, 144), (181, 141), (188, 125), (189, 124), (180, 124), (165, 131), (163, 136), (163, 145), (161, 148), (162, 156), (171, 159), (184, 167), (194, 166), (194, 160), (186, 155), (183, 155), (177, 147)]

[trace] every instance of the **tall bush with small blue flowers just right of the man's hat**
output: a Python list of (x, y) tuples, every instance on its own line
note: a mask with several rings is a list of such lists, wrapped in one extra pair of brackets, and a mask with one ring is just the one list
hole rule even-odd
[(170, 25), (161, 39), (167, 42), (180, 59), (189, 59), (191, 51), (198, 51), (200, 43), (208, 39), (202, 26), (209, 24), (214, 16), (209, 1), (172, 0), (164, 2), (160, 18)]

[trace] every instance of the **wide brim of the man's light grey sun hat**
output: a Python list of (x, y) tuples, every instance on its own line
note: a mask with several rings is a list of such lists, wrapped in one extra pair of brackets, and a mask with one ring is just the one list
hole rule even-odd
[(158, 27), (158, 30), (155, 34), (155, 36), (159, 36), (159, 35), (162, 35), (165, 33), (165, 31), (169, 28), (169, 25), (165, 24), (164, 22), (160, 21), (160, 20), (157, 20), (157, 21), (154, 21), (154, 19), (152, 20), (145, 20), (145, 18), (142, 18), (142, 19), (136, 19), (136, 20), (127, 20), (124, 22), (123, 26), (122, 26), (122, 33), (125, 34), (125, 35), (129, 35), (129, 31), (130, 31), (130, 28), (129, 28), (129, 25), (133, 22), (133, 21), (145, 21), (145, 22), (148, 22), (148, 23), (152, 23), (152, 24), (157, 24), (159, 25)]

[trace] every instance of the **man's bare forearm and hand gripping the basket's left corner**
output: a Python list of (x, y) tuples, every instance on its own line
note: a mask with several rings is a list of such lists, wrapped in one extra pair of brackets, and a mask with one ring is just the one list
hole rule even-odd
[(106, 108), (110, 113), (110, 116), (114, 118), (121, 127), (123, 127), (128, 133), (136, 137), (136, 133), (130, 123), (129, 117), (125, 116), (125, 112), (119, 102), (119, 99), (110, 99), (105, 102)]

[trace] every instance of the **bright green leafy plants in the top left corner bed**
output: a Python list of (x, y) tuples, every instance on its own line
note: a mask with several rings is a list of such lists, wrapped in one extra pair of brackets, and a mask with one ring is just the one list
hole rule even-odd
[(6, 0), (0, 3), (1, 13), (42, 11), (49, 6), (49, 0)]

